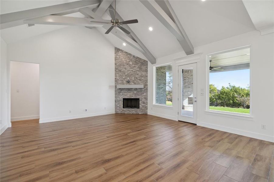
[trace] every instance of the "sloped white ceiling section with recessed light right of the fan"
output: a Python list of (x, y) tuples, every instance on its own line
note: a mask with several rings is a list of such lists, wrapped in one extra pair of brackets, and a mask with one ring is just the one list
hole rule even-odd
[(117, 1), (116, 10), (124, 20), (138, 19), (129, 26), (156, 58), (182, 51), (175, 36), (140, 1)]

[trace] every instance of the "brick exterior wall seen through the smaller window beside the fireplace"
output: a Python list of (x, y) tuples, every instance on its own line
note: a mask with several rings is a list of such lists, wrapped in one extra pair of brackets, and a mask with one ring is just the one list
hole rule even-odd
[(166, 104), (166, 66), (156, 67), (156, 104)]

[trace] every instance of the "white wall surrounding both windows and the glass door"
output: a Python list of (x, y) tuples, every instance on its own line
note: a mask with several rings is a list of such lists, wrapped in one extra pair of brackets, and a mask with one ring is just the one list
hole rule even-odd
[[(213, 42), (195, 48), (195, 53), (201, 52), (200, 62), (197, 64), (197, 90), (206, 90), (206, 55), (223, 50), (233, 49), (245, 45), (251, 45), (251, 119), (242, 117), (232, 118), (224, 114), (209, 114), (206, 110), (206, 94), (198, 95), (197, 124), (218, 130), (237, 133), (262, 140), (274, 141), (274, 95), (273, 95), (273, 60), (274, 60), (274, 34), (260, 35), (260, 32), (253, 31), (218, 42)], [(172, 59), (178, 58), (180, 54), (157, 59), (157, 64), (173, 62), (173, 72), (177, 71)], [(149, 65), (148, 70), (148, 113), (177, 120), (178, 92), (173, 95), (173, 109), (158, 108), (153, 103), (153, 66)], [(173, 88), (178, 83), (173, 78)], [(240, 79), (240, 78), (239, 78)], [(266, 124), (266, 130), (261, 129), (261, 124)]]

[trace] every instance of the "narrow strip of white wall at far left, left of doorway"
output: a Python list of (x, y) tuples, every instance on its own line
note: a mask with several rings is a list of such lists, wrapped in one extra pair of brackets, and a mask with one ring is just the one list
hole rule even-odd
[(0, 79), (1, 79), (1, 89), (0, 89), (0, 117), (1, 117), (1, 123), (0, 128), (2, 134), (7, 127), (9, 126), (8, 121), (8, 105), (7, 105), (7, 44), (6, 42), (1, 38), (0, 42), (1, 47), (1, 63), (0, 63)]

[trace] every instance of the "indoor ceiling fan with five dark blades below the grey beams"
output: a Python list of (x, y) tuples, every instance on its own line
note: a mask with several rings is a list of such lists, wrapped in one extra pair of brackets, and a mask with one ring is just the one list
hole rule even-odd
[(92, 23), (102, 23), (102, 24), (111, 24), (112, 26), (106, 31), (105, 34), (109, 34), (109, 32), (114, 28), (114, 27), (118, 27), (119, 29), (121, 29), (123, 32), (125, 32), (126, 34), (130, 34), (130, 31), (128, 31), (127, 29), (125, 29), (124, 27), (122, 27), (121, 25), (125, 25), (125, 24), (131, 24), (131, 23), (138, 23), (137, 19), (134, 20), (127, 20), (127, 21), (123, 21), (120, 22), (119, 19), (116, 19), (116, 0), (115, 0), (115, 6), (114, 9), (109, 9), (109, 14), (111, 17), (111, 21), (109, 22), (98, 22), (98, 21), (90, 21)]

